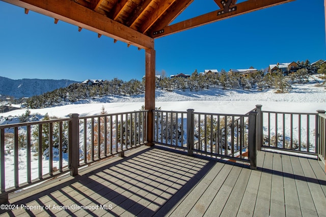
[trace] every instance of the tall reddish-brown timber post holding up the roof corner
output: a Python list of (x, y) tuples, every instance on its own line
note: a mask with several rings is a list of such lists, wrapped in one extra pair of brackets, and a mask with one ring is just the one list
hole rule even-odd
[(155, 50), (145, 50), (145, 109), (148, 110), (147, 118), (147, 145), (153, 145), (155, 110)]

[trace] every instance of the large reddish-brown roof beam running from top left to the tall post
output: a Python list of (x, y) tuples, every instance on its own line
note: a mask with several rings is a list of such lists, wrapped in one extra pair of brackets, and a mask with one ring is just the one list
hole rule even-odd
[(52, 18), (60, 19), (136, 47), (143, 49), (154, 48), (154, 40), (152, 38), (71, 0), (3, 1)]

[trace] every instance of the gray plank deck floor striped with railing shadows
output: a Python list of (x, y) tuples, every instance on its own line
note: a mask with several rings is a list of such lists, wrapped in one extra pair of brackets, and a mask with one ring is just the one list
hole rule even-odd
[(326, 174), (316, 160), (259, 151), (257, 166), (250, 170), (244, 164), (141, 147), (124, 159), (82, 169), (77, 177), (57, 178), (17, 193), (10, 197), (15, 209), (0, 213), (326, 216)]

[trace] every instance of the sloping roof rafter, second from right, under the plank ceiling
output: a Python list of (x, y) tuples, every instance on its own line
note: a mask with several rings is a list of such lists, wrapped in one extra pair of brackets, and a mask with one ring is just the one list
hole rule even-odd
[(166, 12), (169, 7), (175, 2), (176, 0), (162, 0), (156, 10), (154, 10), (150, 17), (143, 23), (140, 28), (141, 33), (146, 33), (147, 30)]

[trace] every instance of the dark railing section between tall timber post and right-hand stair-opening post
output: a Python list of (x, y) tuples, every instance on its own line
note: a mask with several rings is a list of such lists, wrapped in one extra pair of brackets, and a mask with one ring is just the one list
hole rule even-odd
[[(184, 149), (189, 154), (196, 152), (250, 162), (243, 152), (248, 151), (249, 144), (256, 149), (256, 115), (255, 111), (239, 115), (199, 113), (193, 109), (187, 112), (155, 110), (153, 142)], [(256, 154), (254, 149), (252, 153)], [(251, 165), (255, 167), (254, 162)]]

